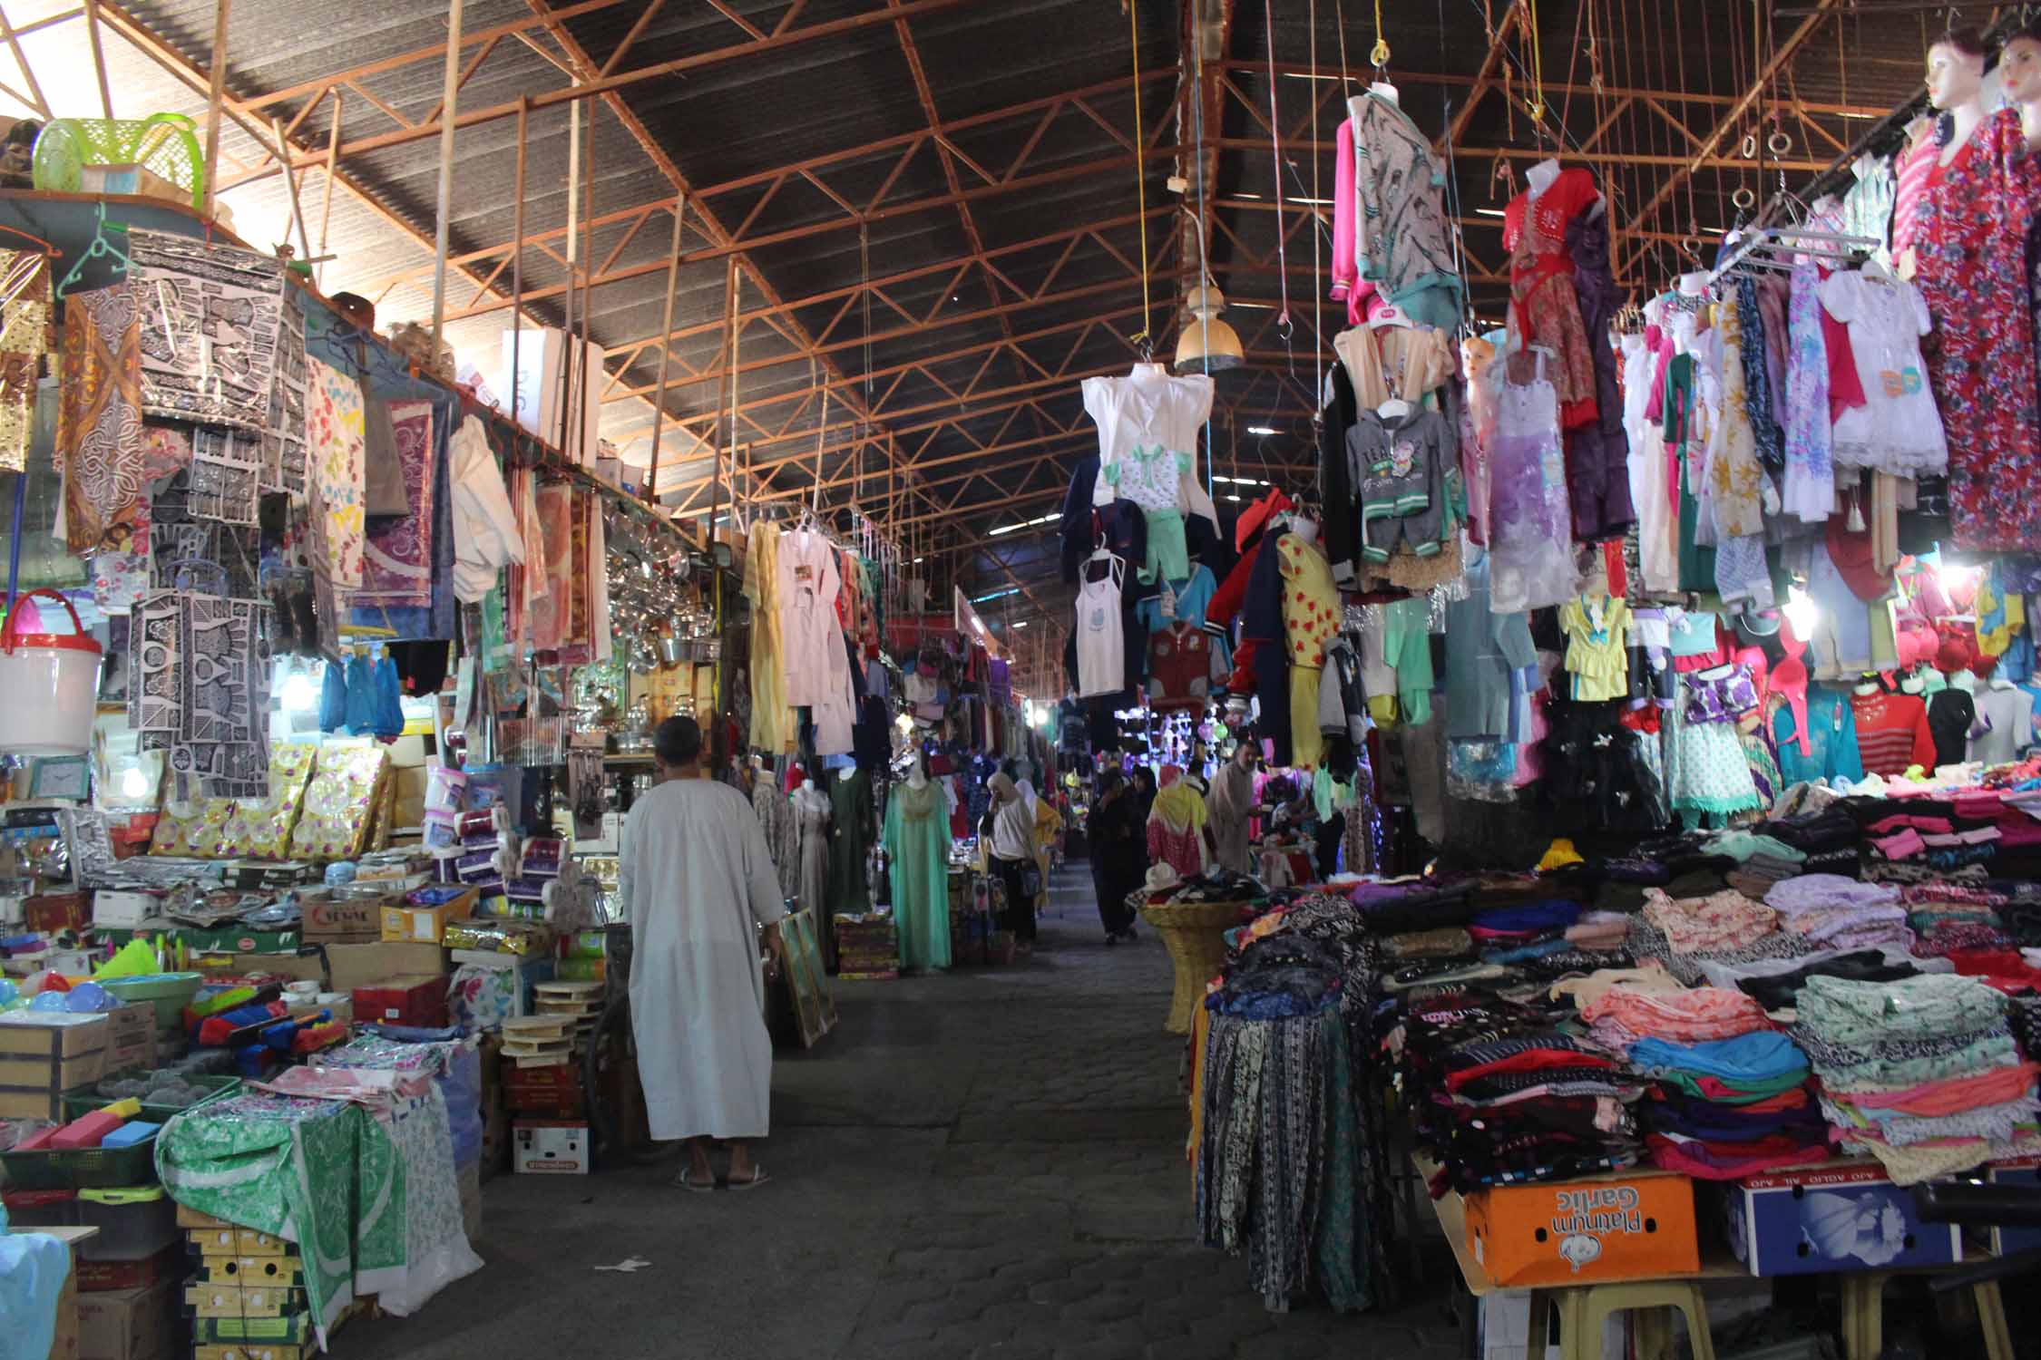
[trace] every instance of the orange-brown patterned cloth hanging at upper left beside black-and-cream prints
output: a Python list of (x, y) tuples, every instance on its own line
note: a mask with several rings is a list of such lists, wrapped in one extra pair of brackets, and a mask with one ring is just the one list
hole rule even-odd
[(127, 553), (143, 495), (141, 310), (133, 281), (63, 300), (57, 463), (71, 553)]

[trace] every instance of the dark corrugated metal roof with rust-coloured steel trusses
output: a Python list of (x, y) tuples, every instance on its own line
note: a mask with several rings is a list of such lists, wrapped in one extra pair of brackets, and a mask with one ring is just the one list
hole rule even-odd
[[(476, 33), (527, 20), (539, 4), (541, 0), (467, 0), (465, 29)], [(20, 24), (61, 8), (63, 0), (18, 2), (10, 6), (10, 18)], [(565, 8), (565, 0), (553, 8)], [(643, 8), (643, 0), (598, 8), (565, 20), (565, 31), (600, 67), (616, 55)], [(1141, 88), (1143, 130), (1159, 137), (1165, 147), (1180, 137), (1172, 75), (1182, 57), (1180, 8), (1159, 0), (1135, 4), (1141, 65), (1157, 75)], [(1474, 96), (1472, 82), (1488, 57), (1486, 22), (1504, 8), (1502, 0), (1384, 6), (1384, 37), (1392, 47), (1388, 75), (1402, 84), (1402, 104), (1427, 133), (1441, 133)], [(1341, 51), (1343, 10), (1351, 12), (1345, 14)], [(212, 41), (210, 0), (135, 0), (127, 12), (182, 53), (194, 69), (204, 69)], [(872, 12), (869, 0), (663, 4), (616, 69), (727, 51), (747, 41), (747, 27), (763, 35), (798, 33), (812, 24), (855, 22)], [(1586, 163), (1604, 177), (1612, 220), (1625, 226), (1692, 155), (1688, 135), (1712, 130), (1729, 100), (1749, 88), (1761, 53), (1798, 24), (1798, 18), (1780, 18), (1765, 33), (1755, 33), (1745, 6), (1716, 0), (1545, 0), (1539, 18), (1543, 31), (1537, 51), (1543, 55), (1543, 80), (1551, 86), (1545, 102), (1553, 126), (1561, 128), (1559, 137), (1570, 149), (1592, 139)], [(1727, 139), (1727, 153), (1735, 155), (1743, 130), (1770, 133), (1776, 126), (1788, 135), (1788, 157), (1833, 161), (1839, 145), (1847, 147), (1876, 126), (1870, 116), (1843, 112), (1845, 106), (1886, 110), (1919, 90), (1923, 39), (1935, 27), (1931, 18), (1851, 14), (1827, 20), (1772, 84), (1774, 96), (1812, 104), (1816, 110), (1786, 110), (1778, 124), (1745, 116)], [(1274, 53), (1265, 24), (1274, 31)], [(984, 118), (953, 128), (943, 139), (953, 153), (957, 181), (972, 196), (963, 208), (900, 208), (947, 198), (951, 188), (943, 157), (927, 137), (929, 110), (916, 92), (912, 63), (894, 22), (867, 22), (820, 41), (767, 45), (753, 55), (625, 86), (620, 98), (698, 196), (688, 214), (684, 247), (692, 261), (680, 269), (674, 304), (674, 324), (688, 334), (669, 347), (676, 361), (667, 389), (669, 412), (696, 432), (708, 432), (723, 412), (718, 398), (725, 396), (725, 383), (718, 369), (725, 363), (727, 263), (720, 255), (704, 255), (710, 239), (700, 230), (696, 212), (706, 210), (714, 218), (718, 239), (733, 232), (743, 243), (761, 234), (782, 237), (743, 251), (745, 269), (763, 279), (771, 300), (743, 273), (741, 312), (751, 314), (771, 302), (794, 304), (769, 320), (749, 322), (737, 347), (739, 400), (747, 406), (737, 420), (737, 438), (745, 447), (745, 459), (771, 465), (804, 449), (812, 451), (820, 402), (808, 400), (808, 341), (827, 330), (820, 361), (845, 385), (831, 398), (829, 430), (823, 434), (825, 444), (843, 449), (825, 455), (825, 475), (847, 477), (853, 467), (863, 467), (869, 475), (884, 467), (884, 453), (876, 444), (849, 447), (861, 432), (872, 432), (872, 426), (855, 422), (849, 408), (849, 400), (861, 404), (867, 389), (880, 400), (880, 430), (910, 430), (902, 438), (906, 449), (920, 449), (933, 422), (957, 418), (953, 428), (935, 430), (923, 457), (947, 459), (927, 477), (941, 481), (935, 491), (939, 504), (963, 489), (949, 522), (967, 540), (988, 524), (1004, 522), (1006, 512), (986, 508), (1002, 489), (1027, 487), (1033, 498), (1047, 485), (1033, 453), (1057, 447), (1045, 430), (1078, 420), (1076, 375), (1123, 367), (1131, 357), (1127, 336), (1141, 328), (1141, 281), (1137, 271), (1129, 271), (1129, 263), (1137, 265), (1141, 259), (1143, 241), (1141, 228), (1131, 220), (1139, 204), (1137, 173), (1125, 163), (1135, 124), (1131, 92), (1125, 86), (1094, 92), (1086, 98), (1088, 108), (1063, 102), (1057, 110), (1041, 106), (1018, 116), (986, 116), (1125, 82), (1133, 69), (1129, 18), (1121, 6), (1098, 0), (1002, 0), (918, 12), (904, 27), (927, 73), (935, 118), (945, 124)], [(1276, 269), (1282, 226), (1294, 224), (1294, 216), (1278, 218), (1272, 212), (1278, 163), (1265, 126), (1265, 63), (1274, 57), (1278, 67), (1274, 94), (1278, 126), (1286, 137), (1284, 198), (1292, 204), (1300, 198), (1331, 198), (1331, 143), (1343, 116), (1341, 96), (1347, 92), (1339, 84), (1341, 63), (1345, 61), (1345, 75), (1357, 90), (1372, 75), (1365, 63), (1374, 37), (1374, 16), (1365, 4), (1292, 2), (1270, 16), (1261, 2), (1241, 0), (1233, 10), (1225, 57), (1237, 65), (1227, 67), (1225, 77), (1237, 94), (1221, 96), (1221, 114), (1206, 135), (1235, 145), (1216, 155), (1218, 202), (1208, 206), (1212, 228), (1206, 253), (1218, 285), (1241, 304), (1229, 312), (1229, 320), (1243, 336), (1261, 334), (1251, 341), (1257, 355), (1274, 355), (1259, 361), (1261, 369), (1288, 367), (1280, 341), (1265, 324), (1272, 318), (1270, 304), (1284, 296), (1284, 281), (1292, 316), (1308, 320), (1323, 312), (1327, 330), (1341, 324), (1337, 308), (1316, 302), (1323, 277), (1312, 277), (1314, 267), (1329, 269), (1327, 224), (1300, 224), (1288, 232), (1282, 251), (1286, 273)], [(359, 6), (343, 0), (243, 6), (233, 14), (229, 90), (243, 98), (288, 90), (443, 39), (445, 14), (422, 6)], [(53, 63), (78, 61), (80, 24), (73, 20), (31, 33), (24, 47), (43, 69), (69, 69)], [(469, 47), (465, 55), (474, 51)], [(122, 116), (153, 110), (202, 112), (204, 98), (190, 82), (173, 80), (127, 41), (108, 37), (106, 53), (116, 112)], [(569, 84), (563, 61), (545, 27), (506, 37), (463, 88), (461, 106), (480, 108), (520, 94), (543, 98), (559, 92)], [(1523, 39), (1508, 43), (1506, 84), (1482, 96), (1453, 157), (1451, 190), (1465, 222), (1467, 249), (1486, 267), (1502, 267), (1506, 261), (1498, 220), (1482, 210), (1500, 208), (1531, 165), (1531, 157), (1498, 157), (1498, 151), (1521, 153), (1539, 145), (1523, 112), (1537, 65)], [(439, 59), (365, 75), (355, 88), (343, 88), (314, 108), (302, 120), (296, 141), (302, 149), (325, 145), (333, 98), (343, 108), (343, 141), (386, 135), (406, 120), (420, 122), (439, 102), (441, 77)], [(96, 92), (88, 82), (65, 80), (59, 86), (45, 77), (43, 84), (57, 112), (98, 112)], [(1557, 90), (1567, 84), (1578, 90)], [(1645, 100), (1635, 94), (1641, 90), (1672, 94)], [(306, 98), (284, 100), (273, 112), (290, 120), (304, 110)], [(1312, 118), (1314, 100), (1321, 100), (1321, 108)], [(378, 102), (388, 104), (394, 116), (378, 108)], [(604, 430), (616, 438), (641, 438), (649, 426), (647, 398), (620, 394), (639, 394), (657, 381), (659, 347), (645, 341), (659, 328), (669, 218), (663, 208), (649, 216), (635, 210), (669, 202), (674, 184), (602, 100), (588, 100), (584, 110), (594, 216), (620, 214), (620, 220), (586, 232), (586, 255), (610, 273), (625, 273), (627, 281), (598, 287), (592, 308), (590, 300), (578, 296), (578, 320), (586, 312), (590, 334), (610, 347), (612, 355), (639, 347), (606, 402)], [(500, 251), (508, 243), (514, 220), (514, 143), (510, 120), (459, 130), (449, 224), (455, 255)], [(859, 151), (861, 147), (867, 149)], [(257, 159), (255, 147), (233, 126), (222, 137), (222, 149), (237, 165)], [(1023, 151), (1025, 159), (1012, 169)], [(1616, 163), (1623, 157), (1657, 157), (1661, 163)], [(1094, 169), (1104, 165), (1110, 169)], [(1500, 179), (1498, 165), (1504, 175)], [(349, 155), (343, 169), (384, 210), (410, 224), (414, 234), (392, 226), (355, 196), (337, 194), (329, 249), (339, 259), (325, 267), (325, 287), (376, 296), (384, 318), (427, 316), (431, 253), (418, 237), (431, 239), (433, 230), (437, 137)], [(1180, 202), (1165, 188), (1174, 169), (1165, 155), (1147, 159), (1139, 175), (1145, 206), (1151, 212), (1163, 210), (1147, 222), (1145, 232), (1151, 251), (1147, 320), (1161, 345), (1174, 341), (1180, 285), (1188, 267), (1188, 261), (1169, 259), (1178, 222), (1167, 210)], [(810, 171), (812, 179), (798, 171)], [(1008, 171), (1012, 181), (1027, 188), (1010, 188)], [(531, 116), (527, 143), (527, 237), (565, 226), (565, 173), (567, 112), (563, 106), (539, 110)], [(1729, 196), (1743, 186), (1770, 196), (1778, 188), (1776, 177), (1776, 171), (1761, 173), (1755, 163), (1696, 171), (1670, 196), (1655, 220), (1645, 224), (1672, 239), (1649, 245), (1635, 271), (1627, 269), (1627, 281), (1653, 285), (1676, 263), (1678, 237), (1696, 224), (1727, 226), (1735, 220)], [(1788, 175), (1788, 184), (1804, 177), (1796, 171)], [(316, 239), (322, 175), (306, 171), (300, 188)], [(225, 202), (253, 241), (282, 239), (288, 198), (278, 177), (233, 188)], [(863, 212), (861, 226), (845, 204)], [(1118, 224), (1090, 234), (1078, 230), (1108, 220)], [(976, 265), (957, 273), (955, 263), (969, 255), (974, 230), (996, 253), (998, 277)], [(1025, 249), (1008, 249), (1016, 245)], [(531, 312), (547, 320), (563, 316), (559, 287), (565, 271), (549, 253), (561, 247), (555, 234), (522, 251), (525, 285), (541, 294)], [(500, 257), (488, 255), (469, 269), (486, 275)], [(902, 273), (912, 277), (886, 283), (884, 298), (853, 298), (863, 279)], [(508, 283), (508, 277), (504, 271), (502, 281)], [(449, 290), (449, 306), (457, 312), (478, 300), (474, 283), (453, 281)], [(1500, 316), (1500, 283), (1476, 283), (1472, 292), (1480, 316)], [(849, 308), (845, 300), (851, 300)], [(455, 320), (449, 334), (463, 349), (488, 349), (496, 345), (508, 316), (506, 308), (467, 316)], [(1008, 343), (1012, 349), (1002, 351)], [(1286, 373), (1280, 381), (1274, 375), (1257, 379), (1253, 371), (1221, 379), (1223, 404), (1231, 394), (1251, 391), (1243, 402), (1251, 414), (1243, 412), (1241, 420), (1218, 428), (1218, 461), (1227, 467), (1257, 465), (1267, 457), (1265, 444), (1282, 444), (1282, 461), (1308, 461), (1298, 434), (1308, 432), (1302, 418), (1308, 414), (1316, 359), (1308, 353), (1308, 332), (1300, 332), (1296, 343), (1304, 347), (1298, 381), (1290, 381)], [(869, 383), (861, 377), (867, 371)], [(1023, 402), (1035, 402), (1037, 408), (1025, 408)], [(1276, 440), (1253, 440), (1239, 434), (1243, 424), (1272, 424), (1286, 432)], [(994, 438), (1039, 442), (1012, 455), (969, 457), (974, 440)], [(676, 449), (684, 442), (684, 436), (676, 438)], [(1080, 426), (1072, 447), (1082, 442)], [(1069, 457), (1063, 467), (1067, 461)], [(965, 479), (974, 471), (984, 475)], [(706, 463), (692, 461), (686, 475), (706, 475)], [(812, 461), (786, 463), (778, 471), (767, 467), (761, 483), (767, 477), (774, 487), (804, 485), (812, 477)], [(916, 500), (908, 514), (931, 512)], [(1035, 551), (1023, 542), (1029, 538), (1031, 534), (1014, 534), (998, 544), (1002, 555), (1025, 561)]]

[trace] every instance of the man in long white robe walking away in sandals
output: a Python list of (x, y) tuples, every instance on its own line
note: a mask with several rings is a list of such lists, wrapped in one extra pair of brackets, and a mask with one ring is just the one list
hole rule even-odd
[(757, 928), (786, 916), (751, 803), (702, 779), (702, 730), (667, 718), (653, 736), (661, 781), (631, 805), (616, 869), (631, 922), (631, 1028), (657, 1140), (686, 1138), (680, 1185), (714, 1189), (708, 1140), (731, 1140), (729, 1185), (765, 1181), (741, 1140), (763, 1138), (771, 1036)]

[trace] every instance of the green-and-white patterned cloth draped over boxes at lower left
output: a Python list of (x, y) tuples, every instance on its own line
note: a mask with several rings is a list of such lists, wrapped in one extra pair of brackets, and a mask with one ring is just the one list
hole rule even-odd
[(296, 1244), (320, 1344), (355, 1299), (365, 1123), (347, 1101), (249, 1091), (176, 1115), (155, 1142), (163, 1189), (180, 1205)]

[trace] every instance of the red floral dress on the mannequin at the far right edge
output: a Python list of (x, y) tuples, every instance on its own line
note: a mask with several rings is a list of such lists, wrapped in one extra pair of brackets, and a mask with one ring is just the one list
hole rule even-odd
[(1914, 224), (1914, 283), (1935, 320), (1923, 357), (1949, 434), (1949, 528), (1974, 553), (2041, 551), (2025, 155), (2019, 112), (1992, 114), (1929, 173)]

